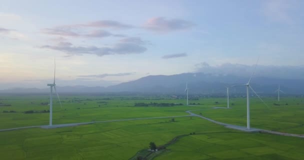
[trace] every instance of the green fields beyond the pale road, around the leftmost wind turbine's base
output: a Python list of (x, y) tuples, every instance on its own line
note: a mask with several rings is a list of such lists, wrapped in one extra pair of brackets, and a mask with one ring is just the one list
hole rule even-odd
[[(140, 117), (188, 115), (187, 109), (204, 108), (200, 106), (177, 106), (177, 107), (134, 107), (135, 102), (175, 102), (176, 99), (123, 99), (126, 97), (85, 97), (85, 96), (63, 96), (62, 108), (57, 101), (53, 104), (53, 124), (102, 121), (112, 119), (127, 119)], [(106, 100), (105, 100), (106, 99)], [(73, 101), (80, 100), (80, 101)], [(10, 96), (0, 98), (0, 102), (11, 104), (11, 106), (0, 107), (0, 129), (20, 127), (28, 125), (46, 125), (49, 113), (23, 113), (26, 110), (48, 110), (47, 96)], [(105, 101), (106, 103), (98, 103)], [(177, 101), (182, 101), (181, 99)], [(100, 106), (99, 106), (100, 105)], [(3, 113), (3, 110), (15, 110), (16, 113)], [(126, 114), (127, 113), (127, 114)]]

